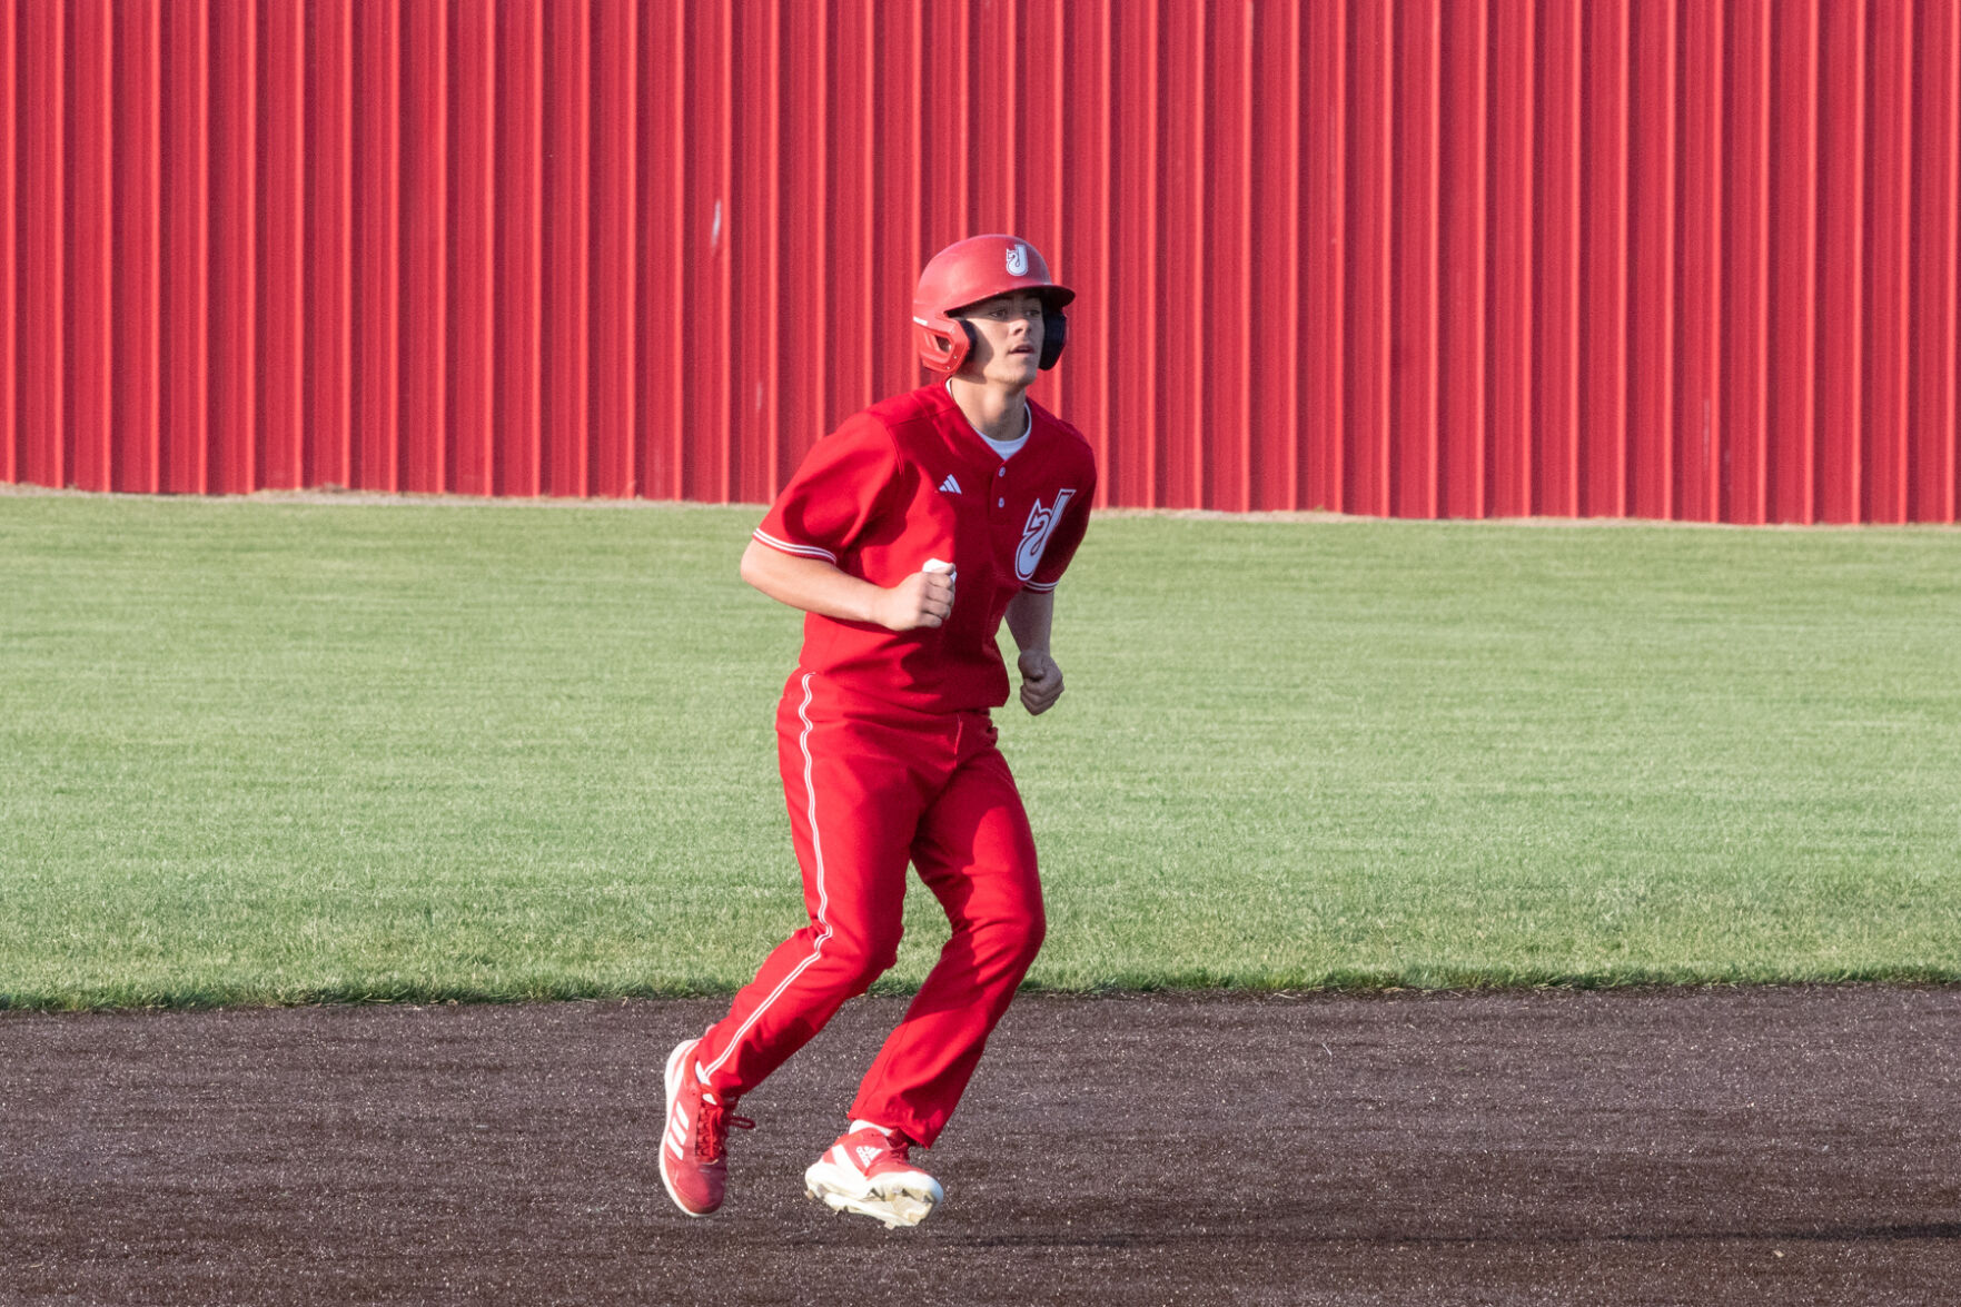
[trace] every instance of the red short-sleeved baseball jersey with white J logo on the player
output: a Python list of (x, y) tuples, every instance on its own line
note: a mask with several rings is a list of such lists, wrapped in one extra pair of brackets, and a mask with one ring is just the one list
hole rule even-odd
[(953, 563), (941, 626), (894, 632), (804, 614), (800, 667), (879, 703), (961, 712), (1008, 703), (994, 636), (1020, 591), (1053, 591), (1096, 495), (1096, 459), (1077, 428), (1028, 402), (1028, 444), (1002, 459), (930, 385), (873, 404), (820, 440), (755, 538), (894, 587)]

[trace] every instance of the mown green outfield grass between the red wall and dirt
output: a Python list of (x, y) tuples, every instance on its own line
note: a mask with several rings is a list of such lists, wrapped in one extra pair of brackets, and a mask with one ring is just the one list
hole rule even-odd
[[(0, 495), (0, 1005), (745, 981), (757, 518)], [(1035, 985), (1961, 979), (1957, 532), (1112, 514), (1057, 657)]]

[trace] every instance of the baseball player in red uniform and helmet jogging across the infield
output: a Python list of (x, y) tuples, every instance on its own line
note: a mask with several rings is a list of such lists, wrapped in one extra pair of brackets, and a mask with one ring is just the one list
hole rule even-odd
[(661, 1181), (690, 1217), (722, 1205), (729, 1126), (753, 1124), (735, 1103), (896, 960), (908, 862), (953, 938), (804, 1187), (886, 1229), (943, 1197), (910, 1150), (939, 1138), (1043, 936), (988, 708), (1008, 701), (1002, 618), (1022, 705), (1063, 693), (1049, 618), (1096, 463), (1028, 387), (1061, 355), (1073, 298), (1014, 235), (933, 255), (912, 302), (933, 383), (820, 440), (743, 553), (743, 581), (806, 614), (777, 740), (810, 924), (667, 1058)]

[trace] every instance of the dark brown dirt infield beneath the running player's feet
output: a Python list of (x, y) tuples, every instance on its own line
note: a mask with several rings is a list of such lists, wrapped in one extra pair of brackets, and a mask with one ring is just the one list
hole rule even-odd
[(1024, 997), (918, 1230), (802, 1168), (900, 1005), (661, 1191), (722, 1003), (0, 1015), (0, 1303), (1953, 1303), (1961, 991)]

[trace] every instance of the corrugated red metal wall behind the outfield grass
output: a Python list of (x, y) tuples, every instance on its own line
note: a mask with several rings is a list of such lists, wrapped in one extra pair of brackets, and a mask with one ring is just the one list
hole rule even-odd
[(986, 230), (1112, 504), (1955, 520), (1961, 0), (14, 0), (0, 481), (763, 500)]

